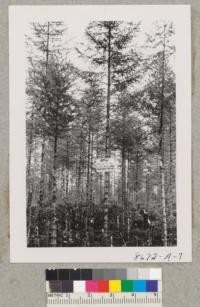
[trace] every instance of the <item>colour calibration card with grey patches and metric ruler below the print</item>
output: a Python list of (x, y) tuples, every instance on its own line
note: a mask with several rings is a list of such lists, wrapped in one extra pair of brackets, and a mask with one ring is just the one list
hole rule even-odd
[(161, 269), (46, 270), (47, 306), (162, 306)]

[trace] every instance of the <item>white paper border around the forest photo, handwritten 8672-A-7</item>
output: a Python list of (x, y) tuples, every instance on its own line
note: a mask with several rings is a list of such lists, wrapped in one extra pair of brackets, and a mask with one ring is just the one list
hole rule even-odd
[[(177, 246), (44, 247), (26, 243), (25, 28), (31, 21), (170, 20), (176, 37)], [(66, 5), (9, 7), (10, 261), (25, 263), (191, 262), (191, 18), (190, 5)]]

